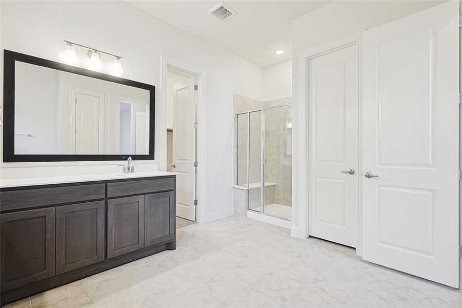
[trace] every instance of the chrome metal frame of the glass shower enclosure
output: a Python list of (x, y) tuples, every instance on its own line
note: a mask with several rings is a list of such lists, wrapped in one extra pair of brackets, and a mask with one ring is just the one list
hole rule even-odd
[[(277, 108), (285, 108), (285, 107), (292, 108), (292, 104), (286, 104), (286, 105), (280, 105), (280, 106), (268, 107), (268, 108), (253, 109), (253, 110), (244, 111), (244, 112), (236, 112), (237, 129), (239, 129), (238, 127), (239, 114), (247, 114), (247, 185), (239, 185), (239, 183), (237, 183), (237, 185), (247, 187), (247, 190), (248, 190), (247, 209), (248, 210), (254, 211), (255, 213), (265, 214), (271, 217), (276, 217), (279, 219), (292, 221), (292, 219), (265, 213), (265, 164), (266, 164), (266, 159), (265, 159), (265, 132), (266, 132), (265, 130), (265, 111), (277, 109)], [(250, 114), (253, 112), (261, 112), (260, 116), (262, 117), (260, 121), (260, 126), (261, 126), (260, 127), (260, 147), (261, 147), (261, 150), (260, 150), (260, 211), (250, 208), (250, 189), (251, 189), (250, 188)], [(237, 145), (239, 145), (239, 142), (237, 142)], [(291, 167), (292, 167), (292, 164), (291, 164)], [(292, 207), (292, 204), (291, 204), (291, 207)]]

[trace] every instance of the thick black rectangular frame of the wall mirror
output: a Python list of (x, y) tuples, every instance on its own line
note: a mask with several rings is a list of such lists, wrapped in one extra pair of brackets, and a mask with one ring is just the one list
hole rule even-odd
[[(39, 57), (4, 50), (3, 71), (3, 162), (63, 162), (63, 161), (117, 161), (126, 160), (129, 156), (133, 160), (154, 160), (154, 119), (155, 119), (155, 86), (96, 72), (72, 65), (67, 65)], [(149, 106), (149, 154), (148, 155), (107, 155), (107, 154), (38, 154), (26, 155), (14, 153), (14, 69), (15, 61), (48, 67), (69, 73), (88, 76), (113, 83), (123, 84), (150, 92)]]

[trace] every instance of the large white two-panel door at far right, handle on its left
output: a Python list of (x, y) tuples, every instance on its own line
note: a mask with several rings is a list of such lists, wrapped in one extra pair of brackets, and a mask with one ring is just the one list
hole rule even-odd
[(458, 287), (458, 2), (364, 34), (363, 258)]

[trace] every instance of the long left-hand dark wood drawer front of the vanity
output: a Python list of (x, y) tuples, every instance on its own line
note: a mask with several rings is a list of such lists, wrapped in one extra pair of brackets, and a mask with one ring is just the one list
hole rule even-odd
[(2, 191), (1, 210), (104, 199), (105, 184)]

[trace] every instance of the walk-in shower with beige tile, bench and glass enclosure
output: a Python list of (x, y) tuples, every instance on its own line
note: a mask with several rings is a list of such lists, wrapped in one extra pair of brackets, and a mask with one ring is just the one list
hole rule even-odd
[(290, 220), (291, 98), (260, 102), (234, 94), (234, 112), (235, 214), (252, 210)]

